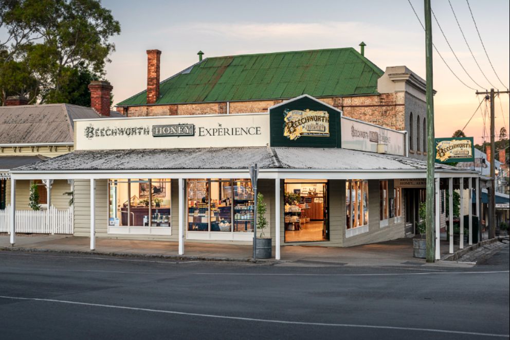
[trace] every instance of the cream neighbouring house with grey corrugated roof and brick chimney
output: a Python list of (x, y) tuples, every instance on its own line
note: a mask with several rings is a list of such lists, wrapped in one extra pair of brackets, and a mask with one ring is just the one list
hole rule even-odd
[[(0, 106), (0, 214), (11, 204), (11, 169), (72, 152), (76, 119), (121, 117), (110, 111), (109, 83), (94, 81), (89, 88), (92, 108), (72, 104), (28, 105), (28, 100), (21, 96), (8, 97), (6, 106)], [(29, 195), (33, 183), (38, 186), (42, 210), (49, 206), (69, 209), (72, 181), (35, 178), (17, 182), (17, 209), (31, 210)], [(5, 221), (1, 224), (0, 231), (7, 231)]]

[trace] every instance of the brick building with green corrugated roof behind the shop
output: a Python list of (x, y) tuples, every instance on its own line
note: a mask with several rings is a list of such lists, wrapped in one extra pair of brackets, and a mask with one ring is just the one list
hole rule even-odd
[[(362, 44), (365, 46), (365, 44)], [(159, 50), (148, 50), (147, 88), (121, 101), (128, 117), (266, 112), (308, 94), (345, 117), (408, 131), (409, 156), (426, 159), (425, 81), (406, 66), (385, 71), (354, 48), (212, 57), (160, 82)]]

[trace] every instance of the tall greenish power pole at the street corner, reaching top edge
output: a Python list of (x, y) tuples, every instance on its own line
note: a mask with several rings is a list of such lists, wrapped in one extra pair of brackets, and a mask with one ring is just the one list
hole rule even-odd
[[(434, 251), (434, 167), (435, 167), (435, 145), (434, 145), (434, 97), (432, 82), (432, 21), (430, 14), (430, 0), (425, 1), (425, 55), (426, 55), (426, 101), (427, 101), (427, 192), (426, 192), (426, 257), (427, 262), (435, 261)], [(439, 198), (438, 198), (439, 199)], [(436, 211), (435, 213), (439, 213)], [(435, 237), (439, 237), (436, 235)]]

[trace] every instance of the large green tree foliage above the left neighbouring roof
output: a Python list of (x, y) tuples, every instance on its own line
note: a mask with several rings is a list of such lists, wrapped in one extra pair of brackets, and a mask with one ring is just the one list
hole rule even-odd
[(0, 40), (0, 100), (25, 95), (88, 106), (86, 86), (104, 77), (115, 50), (110, 38), (120, 33), (111, 11), (98, 0), (0, 0), (0, 5), (0, 37), (6, 37)]

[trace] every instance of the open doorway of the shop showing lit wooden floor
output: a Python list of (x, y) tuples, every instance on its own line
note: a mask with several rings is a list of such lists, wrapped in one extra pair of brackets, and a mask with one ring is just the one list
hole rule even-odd
[(285, 242), (329, 240), (327, 180), (285, 181)]

